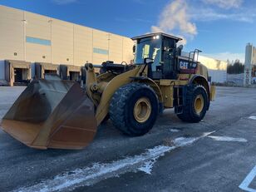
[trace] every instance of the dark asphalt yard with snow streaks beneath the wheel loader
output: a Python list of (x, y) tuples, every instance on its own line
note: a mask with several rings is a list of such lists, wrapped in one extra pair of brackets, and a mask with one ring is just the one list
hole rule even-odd
[[(24, 87), (0, 87), (0, 119)], [(0, 130), (0, 191), (256, 191), (256, 89), (217, 87), (204, 121), (173, 110), (146, 135), (111, 121), (84, 150), (34, 150)]]

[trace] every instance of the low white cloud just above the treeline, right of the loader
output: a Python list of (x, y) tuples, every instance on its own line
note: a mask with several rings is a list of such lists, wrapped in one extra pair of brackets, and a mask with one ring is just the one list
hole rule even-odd
[(217, 53), (207, 53), (202, 54), (206, 57), (212, 57), (215, 59), (219, 59), (221, 61), (227, 61), (229, 59), (230, 62), (235, 61), (236, 59), (239, 59), (240, 62), (244, 63), (244, 53), (233, 53), (233, 52), (217, 52)]

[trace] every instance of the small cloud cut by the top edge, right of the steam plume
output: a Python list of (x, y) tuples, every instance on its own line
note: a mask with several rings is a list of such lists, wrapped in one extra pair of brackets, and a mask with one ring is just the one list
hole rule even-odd
[(202, 0), (205, 4), (211, 4), (218, 6), (220, 8), (229, 9), (229, 8), (239, 8), (243, 0)]

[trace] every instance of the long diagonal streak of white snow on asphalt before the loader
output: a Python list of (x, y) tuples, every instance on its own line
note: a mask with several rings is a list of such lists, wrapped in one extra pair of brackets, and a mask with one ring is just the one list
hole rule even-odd
[(165, 155), (166, 152), (170, 152), (177, 147), (190, 145), (194, 143), (194, 141), (199, 140), (200, 138), (203, 138), (211, 133), (213, 132), (204, 133), (199, 137), (192, 138), (179, 137), (173, 140), (173, 146), (155, 146), (154, 148), (148, 149), (145, 151), (145, 153), (140, 155), (126, 157), (125, 159), (116, 160), (107, 164), (95, 163), (92, 166), (68, 171), (62, 175), (55, 176), (51, 180), (42, 180), (41, 183), (36, 185), (22, 187), (14, 191), (66, 191), (74, 190), (76, 187), (80, 186), (93, 185), (101, 180), (125, 174), (126, 172), (136, 172), (136, 170), (141, 170), (147, 174), (150, 174), (155, 161), (160, 156)]

